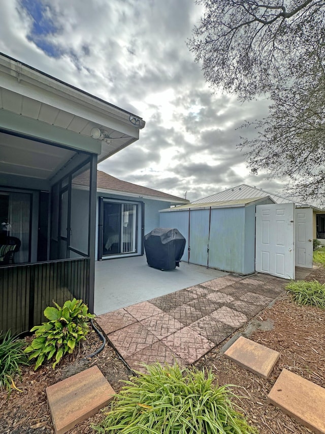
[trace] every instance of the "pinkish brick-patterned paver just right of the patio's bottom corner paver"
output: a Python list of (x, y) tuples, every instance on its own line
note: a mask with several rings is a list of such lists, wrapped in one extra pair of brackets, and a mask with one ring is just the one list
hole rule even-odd
[(185, 363), (193, 363), (210, 351), (215, 343), (204, 336), (185, 327), (167, 337), (161, 342), (165, 343), (174, 353), (180, 356)]

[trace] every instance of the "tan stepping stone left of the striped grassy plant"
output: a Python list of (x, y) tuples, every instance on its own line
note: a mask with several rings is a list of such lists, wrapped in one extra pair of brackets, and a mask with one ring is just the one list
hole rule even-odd
[(115, 392), (98, 366), (92, 366), (47, 387), (46, 395), (55, 434), (63, 434), (107, 406)]

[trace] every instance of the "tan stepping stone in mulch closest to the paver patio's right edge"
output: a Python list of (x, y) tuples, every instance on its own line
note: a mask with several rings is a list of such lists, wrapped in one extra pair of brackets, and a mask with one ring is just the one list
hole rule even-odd
[(259, 377), (267, 380), (270, 377), (274, 365), (280, 357), (280, 353), (271, 350), (260, 343), (240, 336), (236, 342), (225, 351), (224, 355)]

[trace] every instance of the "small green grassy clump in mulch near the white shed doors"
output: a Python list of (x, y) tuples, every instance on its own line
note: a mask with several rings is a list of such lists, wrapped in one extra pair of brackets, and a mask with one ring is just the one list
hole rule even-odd
[(286, 285), (286, 290), (299, 306), (309, 305), (325, 309), (325, 285), (317, 280), (311, 282), (292, 281)]

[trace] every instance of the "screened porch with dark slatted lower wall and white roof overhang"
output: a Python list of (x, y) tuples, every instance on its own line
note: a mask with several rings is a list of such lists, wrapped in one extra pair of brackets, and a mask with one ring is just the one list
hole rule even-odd
[(144, 124), (0, 53), (0, 330), (40, 324), (53, 299), (93, 311), (97, 163)]

